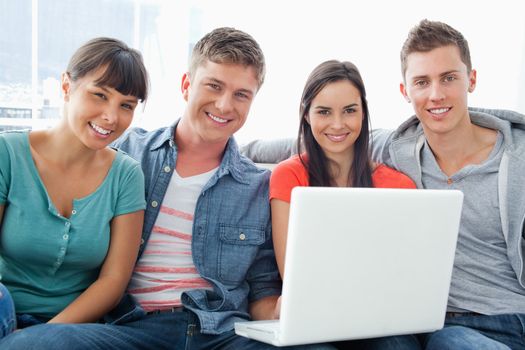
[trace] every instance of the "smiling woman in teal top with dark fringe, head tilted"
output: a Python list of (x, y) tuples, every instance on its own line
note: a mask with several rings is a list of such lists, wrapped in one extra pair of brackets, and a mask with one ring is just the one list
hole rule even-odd
[(140, 53), (93, 39), (61, 89), (57, 126), (0, 133), (0, 336), (13, 330), (14, 310), (18, 329), (100, 319), (120, 300), (140, 244), (143, 174), (108, 147), (147, 97)]

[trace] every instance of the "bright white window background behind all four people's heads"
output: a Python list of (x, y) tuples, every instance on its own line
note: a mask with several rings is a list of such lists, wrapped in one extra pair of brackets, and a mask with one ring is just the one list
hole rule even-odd
[[(397, 2), (239, 0), (0, 0), (0, 129), (45, 128), (58, 120), (60, 74), (73, 51), (111, 36), (142, 51), (151, 94), (134, 125), (171, 124), (184, 111), (180, 81), (194, 43), (219, 26), (253, 35), (267, 61), (266, 82), (239, 141), (294, 137), (310, 71), (327, 59), (350, 60), (367, 88), (372, 127), (399, 125), (412, 109), (399, 93), (399, 50), (422, 18), (441, 20), (468, 39), (478, 71), (470, 104), (525, 113), (525, 14), (519, 0)], [(505, 38), (505, 39), (502, 39)], [(510, 38), (507, 40), (506, 38)], [(510, 44), (509, 44), (510, 43)]]

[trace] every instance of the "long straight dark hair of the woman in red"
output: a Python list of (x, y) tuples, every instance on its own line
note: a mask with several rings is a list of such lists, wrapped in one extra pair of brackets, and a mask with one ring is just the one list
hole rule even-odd
[[(354, 159), (349, 174), (348, 184), (352, 187), (373, 187), (372, 169), (370, 155), (368, 153), (369, 139), (369, 112), (366, 101), (366, 91), (363, 79), (357, 67), (350, 62), (339, 62), (336, 60), (326, 61), (318, 65), (310, 74), (301, 96), (299, 114), (301, 117), (299, 135), (297, 138), (297, 149), (299, 158), (308, 170), (310, 186), (334, 186), (335, 182), (329, 173), (329, 159), (324, 154), (321, 146), (312, 134), (312, 128), (306, 116), (310, 112), (313, 99), (328, 84), (341, 80), (349, 81), (361, 95), (363, 108), (363, 123), (361, 133), (354, 144)], [(308, 157), (307, 160), (301, 155), (302, 144)]]

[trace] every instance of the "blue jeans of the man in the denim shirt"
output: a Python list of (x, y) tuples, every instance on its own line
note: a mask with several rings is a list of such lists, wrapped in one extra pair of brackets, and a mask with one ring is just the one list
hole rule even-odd
[[(234, 331), (218, 335), (200, 333), (197, 317), (190, 311), (147, 315), (122, 325), (42, 324), (13, 333), (0, 348), (30, 349), (276, 349), (237, 336)], [(334, 349), (330, 345), (306, 345), (283, 349)]]

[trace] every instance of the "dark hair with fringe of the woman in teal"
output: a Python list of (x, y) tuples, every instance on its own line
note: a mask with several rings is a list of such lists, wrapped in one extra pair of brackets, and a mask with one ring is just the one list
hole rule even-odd
[(103, 66), (106, 70), (97, 85), (109, 86), (142, 102), (147, 99), (148, 73), (142, 55), (117, 39), (101, 37), (86, 42), (69, 60), (67, 73), (76, 81)]

